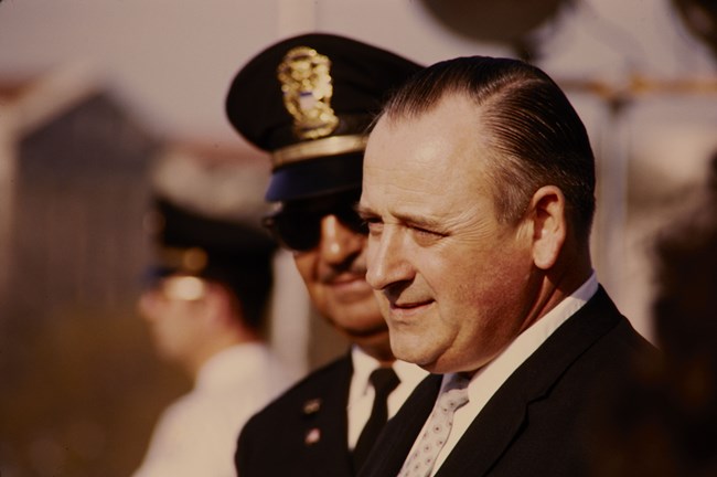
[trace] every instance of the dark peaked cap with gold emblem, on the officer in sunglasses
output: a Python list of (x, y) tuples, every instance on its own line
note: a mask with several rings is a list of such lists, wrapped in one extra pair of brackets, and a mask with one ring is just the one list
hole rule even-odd
[(226, 114), (249, 142), (271, 153), (266, 200), (361, 188), (368, 127), (388, 94), (421, 66), (343, 36), (280, 41), (234, 78)]

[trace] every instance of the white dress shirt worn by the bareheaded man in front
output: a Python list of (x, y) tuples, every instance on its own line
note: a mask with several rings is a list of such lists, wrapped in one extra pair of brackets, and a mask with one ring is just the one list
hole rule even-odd
[[(483, 410), (503, 383), (513, 372), (527, 360), (541, 344), (543, 344), (553, 332), (574, 316), (582, 306), (598, 292), (598, 279), (595, 272), (572, 295), (560, 301), (555, 308), (548, 311), (543, 318), (523, 331), (511, 342), (497, 357), (483, 368), (478, 370), (471, 378), (468, 385), (468, 403), (456, 411), (453, 426), (446, 445), (436, 458), (436, 465), (431, 476), (436, 475), (448, 455), (451, 453), (463, 433), (471, 425), (473, 420)], [(441, 391), (452, 374), (445, 374)], [(424, 430), (418, 434), (424, 434)], [(416, 443), (414, 443), (414, 446)], [(411, 451), (408, 455), (411, 455)]]

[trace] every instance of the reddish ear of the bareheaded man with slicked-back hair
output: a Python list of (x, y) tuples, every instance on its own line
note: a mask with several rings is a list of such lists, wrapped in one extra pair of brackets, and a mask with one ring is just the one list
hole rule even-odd
[(541, 269), (555, 265), (567, 235), (566, 203), (563, 191), (544, 186), (531, 200), (528, 220), (533, 221), (533, 262)]

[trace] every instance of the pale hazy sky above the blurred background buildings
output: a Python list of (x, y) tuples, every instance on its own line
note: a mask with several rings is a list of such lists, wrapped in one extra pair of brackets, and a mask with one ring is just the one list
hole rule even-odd
[[(520, 1), (514, 0), (515, 3)], [(169, 136), (232, 141), (223, 100), (233, 75), (279, 38), (330, 31), (415, 61), (510, 55), (448, 32), (417, 0), (2, 0), (0, 77), (73, 65), (107, 84)], [(544, 29), (541, 65), (559, 76), (619, 82), (634, 71), (714, 73), (706, 49), (667, 0), (582, 0)]]

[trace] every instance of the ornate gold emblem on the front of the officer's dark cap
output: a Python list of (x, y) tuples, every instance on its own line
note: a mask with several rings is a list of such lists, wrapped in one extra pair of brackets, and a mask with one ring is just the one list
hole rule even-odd
[(293, 117), (299, 139), (329, 136), (339, 125), (331, 108), (331, 61), (308, 46), (291, 49), (277, 68), (283, 106)]

